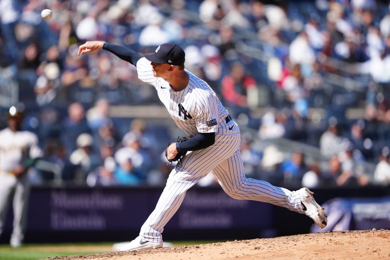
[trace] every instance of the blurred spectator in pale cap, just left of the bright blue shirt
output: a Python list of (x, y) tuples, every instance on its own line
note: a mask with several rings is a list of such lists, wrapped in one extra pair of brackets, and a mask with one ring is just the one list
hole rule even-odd
[(113, 157), (107, 157), (103, 165), (88, 174), (87, 185), (90, 187), (117, 185), (117, 179), (114, 176), (116, 168), (117, 162), (115, 159)]

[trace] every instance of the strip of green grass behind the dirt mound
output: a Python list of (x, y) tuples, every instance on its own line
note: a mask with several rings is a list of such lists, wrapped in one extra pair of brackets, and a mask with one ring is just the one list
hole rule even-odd
[[(220, 241), (170, 241), (173, 246), (206, 244)], [(48, 257), (63, 257), (110, 252), (113, 242), (104, 243), (65, 243), (65, 244), (25, 244), (19, 248), (0, 245), (0, 260), (37, 260)]]

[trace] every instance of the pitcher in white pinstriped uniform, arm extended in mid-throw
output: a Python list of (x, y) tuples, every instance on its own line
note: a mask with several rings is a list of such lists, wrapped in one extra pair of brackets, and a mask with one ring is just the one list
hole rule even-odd
[[(172, 170), (155, 210), (139, 236), (115, 248), (134, 251), (162, 247), (164, 226), (179, 208), (188, 189), (212, 171), (222, 189), (237, 200), (257, 200), (304, 213), (320, 227), (327, 216), (307, 188), (290, 191), (245, 177), (240, 154), (240, 130), (213, 89), (184, 67), (185, 54), (176, 44), (164, 43), (145, 57), (123, 46), (87, 41), (78, 55), (104, 49), (136, 65), (138, 78), (156, 88), (161, 102), (186, 140), (171, 143), (168, 160), (179, 160)], [(180, 156), (177, 157), (177, 154)]]

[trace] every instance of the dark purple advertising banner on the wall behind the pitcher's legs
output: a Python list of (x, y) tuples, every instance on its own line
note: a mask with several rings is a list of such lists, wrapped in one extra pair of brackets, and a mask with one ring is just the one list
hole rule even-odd
[[(156, 206), (160, 188), (35, 188), (28, 232), (139, 230)], [(11, 217), (11, 216), (9, 216)], [(271, 204), (234, 200), (222, 189), (193, 189), (167, 228), (262, 229), (272, 225)], [(11, 230), (8, 218), (6, 230)]]

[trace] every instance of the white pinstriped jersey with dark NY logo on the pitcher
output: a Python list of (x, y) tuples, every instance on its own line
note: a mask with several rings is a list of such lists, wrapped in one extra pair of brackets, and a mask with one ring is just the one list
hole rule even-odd
[(205, 81), (186, 72), (189, 75), (187, 87), (174, 91), (167, 81), (153, 76), (149, 60), (141, 58), (137, 62), (138, 78), (156, 88), (158, 98), (187, 137), (194, 137), (198, 133), (224, 133), (218, 128), (225, 125), (223, 120), (228, 116), (228, 111)]

